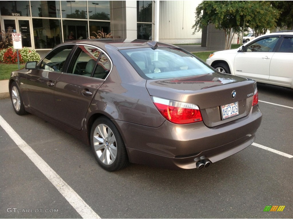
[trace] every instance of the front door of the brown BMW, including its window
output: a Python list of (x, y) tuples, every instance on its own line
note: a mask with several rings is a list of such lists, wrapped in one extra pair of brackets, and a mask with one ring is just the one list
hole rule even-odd
[(38, 68), (31, 70), (26, 79), (29, 107), (54, 118), (54, 86), (60, 77), (63, 64), (69, 57), (74, 45), (55, 48), (38, 64)]

